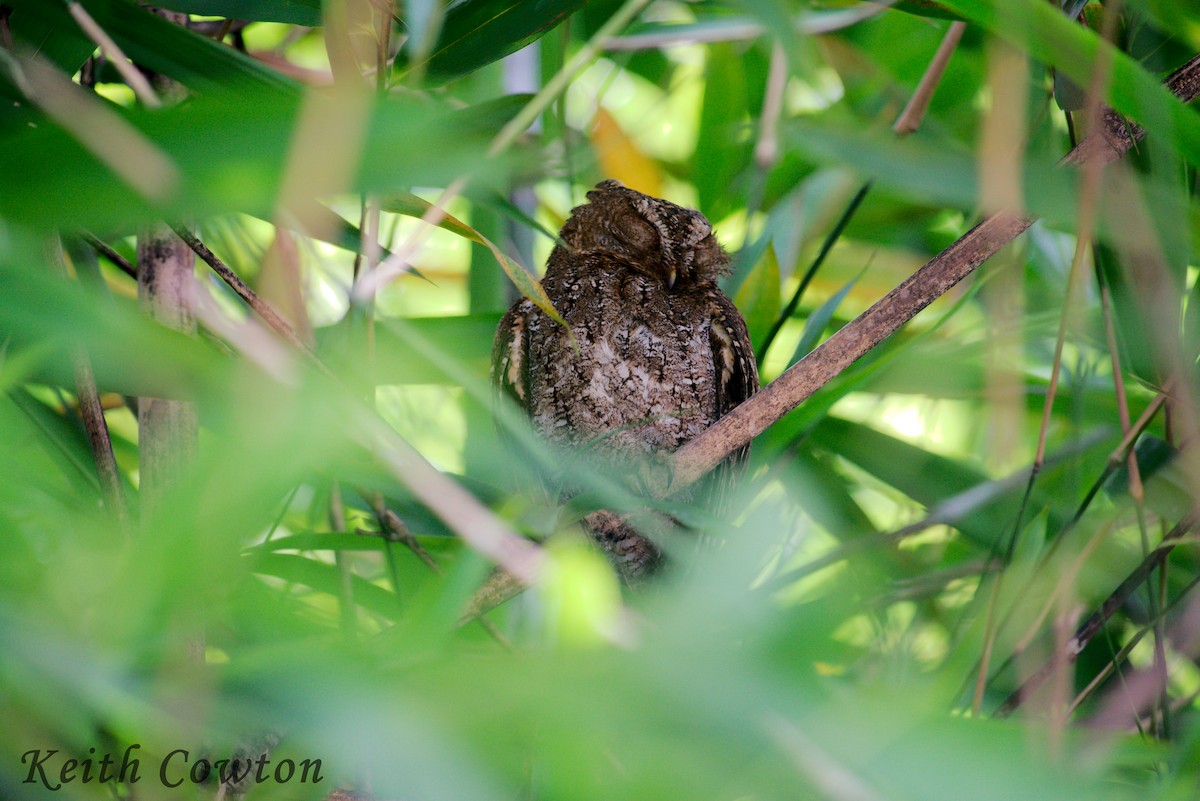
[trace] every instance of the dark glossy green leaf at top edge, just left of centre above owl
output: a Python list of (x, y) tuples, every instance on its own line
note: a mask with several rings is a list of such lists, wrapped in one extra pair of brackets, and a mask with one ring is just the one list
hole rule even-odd
[(450, 79), (516, 53), (583, 5), (583, 0), (461, 0), (446, 10), (426, 67)]

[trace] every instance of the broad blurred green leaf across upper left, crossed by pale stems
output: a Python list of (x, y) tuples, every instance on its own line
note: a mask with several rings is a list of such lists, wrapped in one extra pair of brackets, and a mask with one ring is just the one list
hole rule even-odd
[[(100, 103), (79, 94), (82, 108)], [(349, 189), (395, 191), (412, 185), (444, 186), (463, 164), (476, 176), (503, 169), (484, 153), (491, 126), (514, 104), (448, 109), (412, 97), (376, 106), (362, 157)], [(300, 103), (262, 92), (223, 91), (167, 109), (131, 109), (121, 116), (178, 169), (181, 186), (161, 205), (119, 181), (86, 141), (43, 121), (0, 139), (0, 216), (35, 228), (83, 227), (104, 235), (158, 217), (206, 217), (242, 211), (275, 218)], [(344, 126), (329, 121), (328, 146), (359, 149), (338, 140)]]

